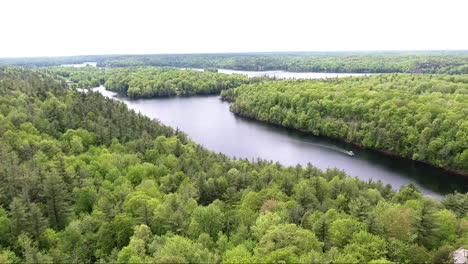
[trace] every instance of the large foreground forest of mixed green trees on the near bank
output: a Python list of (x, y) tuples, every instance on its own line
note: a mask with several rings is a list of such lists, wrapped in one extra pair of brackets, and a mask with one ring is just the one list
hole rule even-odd
[(468, 244), (468, 194), (229, 159), (51, 76), (0, 68), (0, 263), (443, 263)]

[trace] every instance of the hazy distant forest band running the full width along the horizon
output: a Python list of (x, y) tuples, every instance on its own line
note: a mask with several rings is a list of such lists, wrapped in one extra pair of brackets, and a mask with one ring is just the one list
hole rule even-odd
[(0, 58), (0, 65), (37, 67), (89, 61), (97, 62), (102, 67), (171, 66), (250, 71), (468, 74), (468, 51), (95, 55)]

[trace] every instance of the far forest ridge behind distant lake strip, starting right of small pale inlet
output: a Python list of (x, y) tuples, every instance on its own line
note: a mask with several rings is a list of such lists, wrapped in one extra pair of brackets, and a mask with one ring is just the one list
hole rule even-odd
[(212, 67), (247, 71), (468, 74), (468, 54), (161, 55), (109, 59), (99, 65)]

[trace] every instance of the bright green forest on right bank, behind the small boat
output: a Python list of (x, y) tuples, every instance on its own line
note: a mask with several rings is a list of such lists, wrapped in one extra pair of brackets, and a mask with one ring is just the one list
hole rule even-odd
[(284, 80), (223, 97), (242, 116), (468, 174), (468, 75)]

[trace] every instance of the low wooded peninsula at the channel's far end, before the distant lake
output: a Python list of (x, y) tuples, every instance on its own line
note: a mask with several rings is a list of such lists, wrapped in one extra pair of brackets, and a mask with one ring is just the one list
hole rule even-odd
[(106, 70), (96, 67), (47, 67), (40, 68), (40, 70), (63, 79), (72, 88), (92, 88), (104, 84), (107, 90), (130, 98), (176, 94), (219, 94), (224, 89), (268, 79), (218, 73), (216, 69), (198, 71), (172, 67), (131, 67)]

